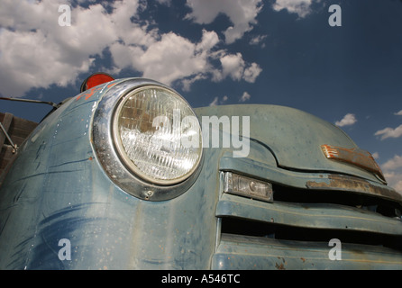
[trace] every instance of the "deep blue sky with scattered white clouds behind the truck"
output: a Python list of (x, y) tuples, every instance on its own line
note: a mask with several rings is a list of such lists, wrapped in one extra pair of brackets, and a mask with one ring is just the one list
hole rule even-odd
[[(0, 96), (59, 103), (99, 71), (158, 80), (193, 107), (310, 112), (402, 193), (400, 0), (0, 0)], [(32, 121), (50, 109), (0, 101)]]

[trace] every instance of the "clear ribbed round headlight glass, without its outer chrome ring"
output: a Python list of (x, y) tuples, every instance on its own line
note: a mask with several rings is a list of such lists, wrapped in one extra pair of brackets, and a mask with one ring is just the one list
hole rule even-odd
[(124, 95), (114, 112), (113, 134), (125, 166), (153, 184), (178, 184), (201, 160), (196, 114), (179, 94), (162, 86), (146, 85)]

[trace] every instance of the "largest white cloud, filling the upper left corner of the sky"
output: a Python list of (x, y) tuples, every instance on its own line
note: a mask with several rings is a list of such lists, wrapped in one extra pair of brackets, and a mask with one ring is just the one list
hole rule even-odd
[[(21, 96), (32, 87), (73, 83), (89, 69), (91, 56), (116, 39), (116, 26), (102, 5), (72, 9), (69, 27), (59, 26), (58, 7), (50, 0), (2, 1), (0, 26), (11, 29), (0, 31), (1, 94)], [(136, 1), (129, 8), (135, 9)]]

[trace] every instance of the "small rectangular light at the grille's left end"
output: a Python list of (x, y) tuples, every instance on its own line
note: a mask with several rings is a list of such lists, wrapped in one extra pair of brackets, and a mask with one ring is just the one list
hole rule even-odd
[(232, 172), (224, 172), (224, 193), (273, 202), (272, 184)]

